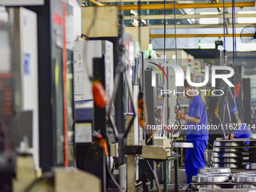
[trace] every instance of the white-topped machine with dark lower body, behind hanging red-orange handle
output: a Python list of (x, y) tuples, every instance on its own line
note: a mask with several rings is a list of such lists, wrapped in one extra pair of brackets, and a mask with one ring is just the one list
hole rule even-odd
[(114, 90), (113, 44), (105, 40), (75, 41), (74, 63), (77, 165), (101, 178), (104, 191), (107, 178), (105, 156), (102, 148), (97, 148), (95, 137), (100, 134), (108, 139), (106, 116), (113, 104), (105, 108), (95, 104), (97, 98), (93, 96), (97, 95), (93, 95), (93, 81), (99, 80), (105, 87), (105, 95), (111, 99)]

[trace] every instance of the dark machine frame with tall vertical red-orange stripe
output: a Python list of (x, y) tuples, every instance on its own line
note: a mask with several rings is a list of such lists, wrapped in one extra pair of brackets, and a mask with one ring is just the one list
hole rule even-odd
[(72, 62), (69, 62), (72, 47), (68, 45), (72, 26), (66, 26), (72, 17), (72, 8), (57, 0), (45, 0), (43, 6), (28, 8), (38, 14), (39, 148), (40, 166), (46, 172), (52, 166), (75, 163), (70, 94)]

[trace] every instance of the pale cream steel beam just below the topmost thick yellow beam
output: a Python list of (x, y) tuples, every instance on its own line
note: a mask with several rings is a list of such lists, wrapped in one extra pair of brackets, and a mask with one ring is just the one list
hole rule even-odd
[[(163, 14), (152, 14), (152, 15), (141, 15), (140, 16), (143, 20), (163, 20)], [(232, 14), (225, 14), (227, 19), (232, 18)], [(255, 17), (255, 14), (235, 14), (236, 18), (240, 17)], [(176, 14), (176, 19), (200, 19), (200, 18), (223, 18), (223, 14)], [(139, 16), (124, 16), (123, 20), (138, 20)], [(173, 14), (166, 14), (166, 20), (173, 20)]]

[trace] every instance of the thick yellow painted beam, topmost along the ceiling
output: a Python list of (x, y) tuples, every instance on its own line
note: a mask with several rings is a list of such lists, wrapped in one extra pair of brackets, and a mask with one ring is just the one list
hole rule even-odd
[[(139, 10), (139, 5), (106, 5), (105, 7), (113, 7), (117, 6), (119, 10), (130, 11), (130, 10)], [(222, 3), (179, 3), (175, 5), (176, 9), (187, 9), (187, 8), (222, 8)], [(226, 8), (232, 8), (232, 2), (225, 3)], [(254, 7), (254, 2), (236, 2), (236, 8), (244, 8), (244, 7)], [(166, 4), (166, 9), (173, 9), (173, 4)], [(162, 10), (164, 9), (163, 4), (149, 4), (149, 5), (141, 5), (141, 10)]]

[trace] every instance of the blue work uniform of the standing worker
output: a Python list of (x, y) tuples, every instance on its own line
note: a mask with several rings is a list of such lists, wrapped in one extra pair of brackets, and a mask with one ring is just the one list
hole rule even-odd
[(185, 158), (185, 169), (187, 184), (190, 184), (192, 176), (197, 175), (198, 169), (205, 166), (205, 151), (209, 140), (208, 117), (206, 105), (200, 96), (190, 99), (187, 115), (189, 117), (200, 117), (200, 123), (187, 121), (187, 142), (192, 142), (194, 148), (187, 148)]

